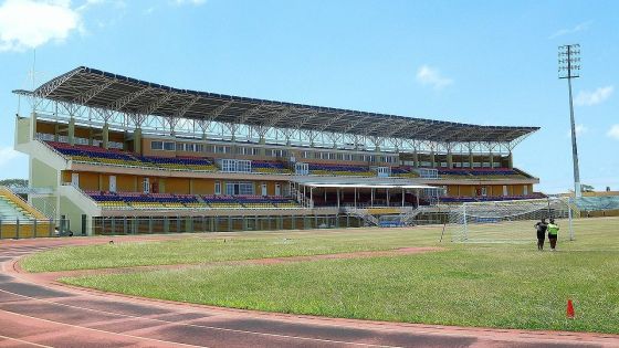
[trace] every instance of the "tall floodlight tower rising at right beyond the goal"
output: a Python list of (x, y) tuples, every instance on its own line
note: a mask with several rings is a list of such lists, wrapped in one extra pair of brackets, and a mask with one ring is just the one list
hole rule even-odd
[(574, 162), (574, 194), (581, 197), (580, 172), (578, 169), (578, 147), (576, 146), (576, 124), (574, 122), (574, 104), (571, 102), (571, 78), (580, 77), (580, 45), (566, 44), (559, 46), (559, 78), (567, 78), (569, 88), (569, 122), (571, 124), (571, 160)]

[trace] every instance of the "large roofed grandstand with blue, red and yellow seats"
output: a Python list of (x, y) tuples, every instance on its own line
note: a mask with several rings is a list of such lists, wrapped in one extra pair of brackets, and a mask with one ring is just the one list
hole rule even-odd
[[(479, 126), (172, 88), (77, 67), (15, 117), (29, 201), (83, 234), (358, 226), (438, 202), (538, 197)], [(426, 207), (428, 208), (428, 207)]]

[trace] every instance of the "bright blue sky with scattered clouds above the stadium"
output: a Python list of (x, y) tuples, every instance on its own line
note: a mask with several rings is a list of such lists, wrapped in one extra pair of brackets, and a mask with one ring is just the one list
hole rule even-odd
[(574, 80), (581, 182), (619, 190), (619, 1), (0, 0), (0, 179), (18, 98), (85, 65), (179, 88), (495, 126), (538, 126), (514, 165), (536, 190), (573, 188)]

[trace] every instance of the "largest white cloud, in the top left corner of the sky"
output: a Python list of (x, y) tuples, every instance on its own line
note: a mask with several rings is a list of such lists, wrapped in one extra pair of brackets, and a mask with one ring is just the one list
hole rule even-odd
[(80, 28), (80, 13), (69, 0), (6, 0), (0, 4), (0, 52), (62, 42)]

